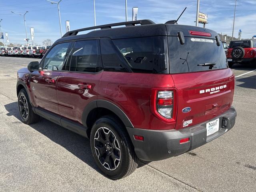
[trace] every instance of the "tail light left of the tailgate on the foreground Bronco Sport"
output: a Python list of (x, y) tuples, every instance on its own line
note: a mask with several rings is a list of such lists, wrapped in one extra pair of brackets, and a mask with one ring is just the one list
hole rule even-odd
[(152, 113), (165, 122), (175, 121), (175, 90), (152, 89), (150, 107)]

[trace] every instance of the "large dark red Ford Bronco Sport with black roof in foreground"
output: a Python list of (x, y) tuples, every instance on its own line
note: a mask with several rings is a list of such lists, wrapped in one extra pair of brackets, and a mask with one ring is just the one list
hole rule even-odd
[(139, 159), (177, 156), (226, 133), (236, 119), (234, 74), (218, 34), (169, 23), (67, 32), (40, 63), (18, 71), (22, 122), (42, 116), (89, 138), (112, 179), (131, 174)]

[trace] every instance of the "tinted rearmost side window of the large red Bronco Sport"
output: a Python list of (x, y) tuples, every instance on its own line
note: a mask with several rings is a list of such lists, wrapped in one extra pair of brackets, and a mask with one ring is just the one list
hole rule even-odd
[(133, 72), (168, 73), (166, 37), (127, 38), (113, 42), (126, 58)]

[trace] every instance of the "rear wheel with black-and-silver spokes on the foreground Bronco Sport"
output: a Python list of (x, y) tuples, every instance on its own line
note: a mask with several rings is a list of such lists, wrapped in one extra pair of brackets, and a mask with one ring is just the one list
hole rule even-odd
[(94, 123), (90, 144), (96, 164), (112, 180), (124, 178), (138, 167), (138, 157), (125, 127), (112, 116), (103, 116)]

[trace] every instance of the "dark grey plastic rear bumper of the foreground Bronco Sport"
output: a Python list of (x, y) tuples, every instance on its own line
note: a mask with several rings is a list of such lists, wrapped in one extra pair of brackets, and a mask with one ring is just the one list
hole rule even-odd
[[(206, 136), (206, 123), (217, 118), (220, 118), (219, 130), (210, 136)], [(227, 120), (226, 128), (222, 128), (222, 120), (224, 119)], [(236, 110), (231, 107), (227, 112), (216, 116), (214, 119), (180, 130), (126, 128), (138, 158), (144, 161), (158, 161), (178, 156), (218, 138), (234, 126), (235, 120)], [(144, 141), (135, 140), (134, 135), (143, 136)], [(180, 144), (180, 139), (188, 137), (190, 138), (189, 142)]]

